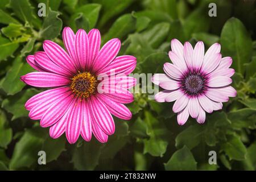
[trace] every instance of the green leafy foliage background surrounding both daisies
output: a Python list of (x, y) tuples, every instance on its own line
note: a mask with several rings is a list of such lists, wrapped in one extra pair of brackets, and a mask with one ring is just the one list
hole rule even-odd
[[(39, 2), (47, 5), (44, 18), (37, 15)], [(217, 4), (217, 17), (208, 16), (210, 2)], [(255, 170), (255, 22), (254, 1), (1, 0), (0, 169)], [(171, 103), (135, 94), (129, 105), (133, 119), (115, 118), (116, 132), (108, 143), (53, 140), (24, 109), (24, 102), (42, 90), (19, 77), (33, 71), (25, 57), (42, 50), (43, 40), (63, 46), (64, 26), (99, 28), (103, 43), (121, 39), (120, 55), (137, 57), (137, 73), (162, 72), (172, 38), (192, 44), (203, 40), (207, 48), (220, 42), (222, 56), (233, 57), (238, 96), (207, 114), (204, 125), (189, 119), (178, 126)], [(47, 165), (37, 163), (40, 150), (47, 153)], [(212, 150), (217, 165), (208, 164)]]

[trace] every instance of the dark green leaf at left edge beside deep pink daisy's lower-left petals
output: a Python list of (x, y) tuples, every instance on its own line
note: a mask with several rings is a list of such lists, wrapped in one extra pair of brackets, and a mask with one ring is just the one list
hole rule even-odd
[(9, 96), (2, 102), (2, 107), (9, 111), (9, 113), (13, 114), (11, 120), (26, 117), (28, 115), (28, 111), (25, 109), (24, 104), (26, 101), (39, 93), (36, 89), (27, 89), (22, 92), (15, 94), (14, 96)]

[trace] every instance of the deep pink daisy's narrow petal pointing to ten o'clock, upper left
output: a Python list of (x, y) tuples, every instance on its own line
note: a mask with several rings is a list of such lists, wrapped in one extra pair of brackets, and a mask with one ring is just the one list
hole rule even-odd
[(35, 61), (38, 65), (40, 65), (41, 68), (44, 68), (47, 72), (52, 72), (63, 76), (71, 76), (70, 72), (65, 71), (65, 69), (53, 63), (52, 60), (50, 60), (47, 56), (46, 52), (36, 52)]

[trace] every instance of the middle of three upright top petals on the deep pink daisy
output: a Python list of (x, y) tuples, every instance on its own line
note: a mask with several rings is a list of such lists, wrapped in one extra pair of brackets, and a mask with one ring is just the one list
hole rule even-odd
[(79, 61), (79, 65), (82, 71), (87, 67), (88, 55), (89, 55), (89, 40), (88, 36), (83, 29), (79, 29), (76, 32), (75, 37), (75, 50), (76, 50), (76, 59)]

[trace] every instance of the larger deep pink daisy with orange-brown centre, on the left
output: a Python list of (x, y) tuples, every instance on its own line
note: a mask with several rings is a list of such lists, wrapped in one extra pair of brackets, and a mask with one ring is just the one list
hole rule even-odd
[[(121, 47), (119, 39), (109, 40), (100, 49), (101, 35), (97, 29), (88, 34), (80, 29), (74, 34), (71, 28), (65, 27), (63, 41), (67, 52), (46, 40), (44, 51), (27, 56), (28, 64), (38, 72), (28, 73), (21, 80), (31, 86), (51, 88), (26, 102), (28, 116), (40, 119), (40, 126), (50, 127), (52, 138), (65, 132), (68, 142), (75, 143), (80, 134), (89, 141), (93, 133), (105, 143), (115, 131), (112, 114), (121, 119), (131, 118), (124, 104), (134, 100), (127, 89), (136, 80), (127, 75), (135, 69), (136, 58), (116, 57)], [(100, 75), (104, 75), (103, 81), (98, 80)], [(98, 92), (98, 85), (106, 80), (112, 80), (108, 84), (115, 92)], [(117, 86), (121, 80), (126, 80), (126, 84)]]

